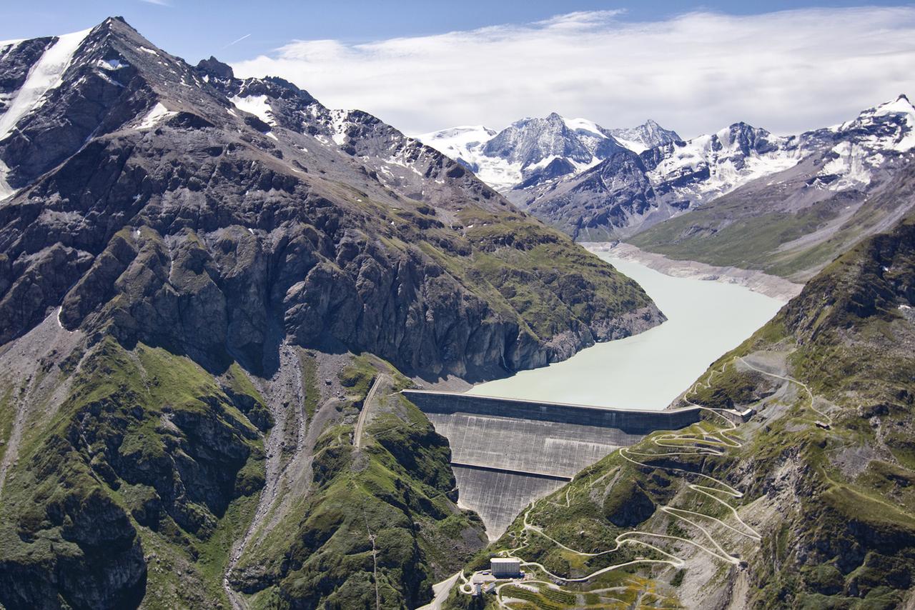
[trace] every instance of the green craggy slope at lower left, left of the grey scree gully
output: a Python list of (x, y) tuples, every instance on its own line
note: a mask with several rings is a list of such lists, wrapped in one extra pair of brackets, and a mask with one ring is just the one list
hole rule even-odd
[(48, 586), (46, 607), (224, 601), (221, 571), (264, 483), (263, 460), (261, 431), (197, 365), (105, 339), (18, 449), (0, 556), (23, 584)]

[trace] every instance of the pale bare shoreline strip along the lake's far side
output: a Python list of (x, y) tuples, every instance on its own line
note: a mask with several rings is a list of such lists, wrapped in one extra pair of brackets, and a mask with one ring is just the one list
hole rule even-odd
[(739, 284), (755, 293), (765, 294), (787, 303), (801, 293), (803, 284), (794, 284), (783, 277), (758, 270), (739, 267), (716, 267), (705, 262), (677, 261), (663, 254), (641, 250), (629, 243), (609, 241), (582, 241), (581, 246), (595, 254), (608, 254), (613, 258), (633, 261), (672, 277)]

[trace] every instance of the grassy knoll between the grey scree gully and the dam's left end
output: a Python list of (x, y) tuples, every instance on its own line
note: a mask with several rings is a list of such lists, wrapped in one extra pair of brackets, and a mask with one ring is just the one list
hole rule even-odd
[(361, 449), (353, 423), (328, 426), (314, 447), (311, 489), (257, 533), (233, 570), (252, 607), (374, 607), (377, 599), (412, 608), (483, 545), (479, 518), (452, 501), (447, 440), (393, 393), (410, 382), (365, 357), (340, 377), (359, 403), (380, 373), (393, 384), (371, 404)]

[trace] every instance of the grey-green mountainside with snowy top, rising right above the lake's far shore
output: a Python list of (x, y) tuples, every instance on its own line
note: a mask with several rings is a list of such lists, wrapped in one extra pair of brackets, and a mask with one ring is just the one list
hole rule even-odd
[(913, 126), (915, 108), (899, 96), (855, 120), (782, 140), (795, 165), (627, 240), (676, 259), (804, 282), (915, 205)]

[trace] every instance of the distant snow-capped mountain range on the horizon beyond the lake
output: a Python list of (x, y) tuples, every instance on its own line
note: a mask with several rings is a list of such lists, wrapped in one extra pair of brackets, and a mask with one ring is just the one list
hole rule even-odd
[[(485, 140), (475, 133), (479, 136), (476, 144), (453, 143), (446, 133), (421, 137), (433, 145), (437, 138), (446, 155), (471, 159), (468, 166), (479, 170), (484, 181), (576, 240), (612, 241), (681, 216), (740, 187), (764, 185), (814, 155), (823, 155), (825, 165), (815, 171), (803, 170), (809, 172), (808, 187), (822, 189), (826, 196), (867, 190), (899, 165), (895, 159), (915, 146), (913, 117), (915, 110), (901, 95), (846, 123), (789, 136), (776, 136), (747, 123), (734, 123), (687, 141), (653, 122), (631, 130), (606, 130), (597, 125), (571, 130), (605, 134), (620, 144), (605, 145), (600, 155), (591, 157), (584, 154), (584, 146), (556, 149), (555, 158), (538, 149), (538, 154), (527, 156), (525, 151), (531, 146), (518, 136), (528, 124), (524, 122)], [(553, 124), (559, 123), (561, 117), (556, 115)], [(575, 126), (574, 121), (565, 123), (569, 123), (567, 128)], [(541, 134), (544, 129), (531, 131)], [(560, 132), (554, 128), (546, 133)], [(512, 176), (507, 171), (495, 176), (481, 164), (479, 155), (492, 151), (519, 166), (520, 174), (513, 175), (513, 182), (506, 182), (505, 177)], [(823, 197), (802, 194), (798, 199)]]

